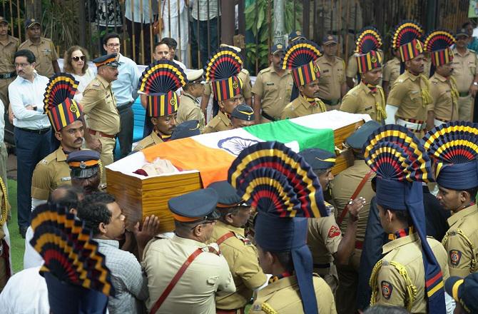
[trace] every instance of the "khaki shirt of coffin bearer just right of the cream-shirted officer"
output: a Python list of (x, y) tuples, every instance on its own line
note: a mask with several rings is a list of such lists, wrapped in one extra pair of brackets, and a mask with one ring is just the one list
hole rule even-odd
[(232, 231), (230, 237), (219, 245), (220, 253), (228, 261), (230, 273), (235, 283), (235, 293), (218, 292), (215, 295), (215, 307), (221, 310), (243, 308), (253, 296), (253, 289), (259, 288), (267, 280), (258, 262), (258, 250), (245, 238), (243, 228), (235, 228), (218, 221), (214, 226), (213, 243), (221, 236)]

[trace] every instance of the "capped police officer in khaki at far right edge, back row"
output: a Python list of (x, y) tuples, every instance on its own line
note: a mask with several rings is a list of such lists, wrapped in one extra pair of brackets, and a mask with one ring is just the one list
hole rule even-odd
[(458, 29), (455, 37), (452, 75), (459, 92), (459, 120), (472, 121), (474, 97), (478, 91), (478, 57), (476, 51), (467, 48), (469, 36), (466, 29)]

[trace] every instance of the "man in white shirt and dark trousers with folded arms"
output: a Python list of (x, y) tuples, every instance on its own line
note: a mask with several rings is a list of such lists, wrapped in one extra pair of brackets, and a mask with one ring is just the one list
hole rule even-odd
[(19, 231), (25, 238), (30, 224), (31, 176), (36, 164), (51, 153), (51, 127), (43, 103), (49, 79), (34, 71), (36, 58), (33, 52), (26, 49), (16, 51), (14, 61), (17, 77), (9, 85), (9, 100), (15, 126)]

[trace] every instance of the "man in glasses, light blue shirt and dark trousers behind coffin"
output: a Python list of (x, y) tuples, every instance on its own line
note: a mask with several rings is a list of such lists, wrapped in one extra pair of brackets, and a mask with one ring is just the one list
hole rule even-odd
[(138, 97), (138, 81), (141, 74), (133, 60), (120, 54), (120, 42), (120, 37), (116, 33), (106, 34), (103, 38), (103, 48), (106, 50), (106, 54), (116, 53), (119, 56), (118, 79), (113, 81), (111, 89), (121, 117), (121, 128), (118, 133), (121, 153), (116, 157), (123, 158), (131, 153), (133, 144), (134, 113), (131, 106)]

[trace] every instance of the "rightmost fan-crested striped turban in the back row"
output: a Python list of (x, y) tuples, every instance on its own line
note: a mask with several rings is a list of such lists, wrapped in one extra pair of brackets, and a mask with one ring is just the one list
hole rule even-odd
[(432, 69), (430, 76), (433, 75), (437, 66), (442, 66), (453, 61), (453, 51), (451, 46), (455, 43), (452, 33), (445, 29), (431, 31), (425, 36), (424, 49), (432, 56)]

